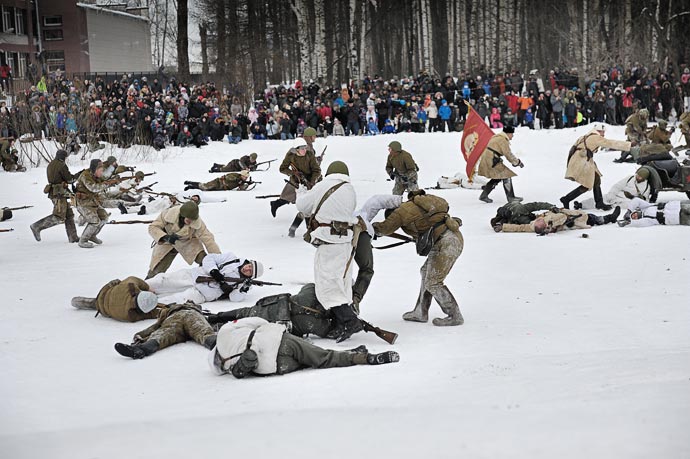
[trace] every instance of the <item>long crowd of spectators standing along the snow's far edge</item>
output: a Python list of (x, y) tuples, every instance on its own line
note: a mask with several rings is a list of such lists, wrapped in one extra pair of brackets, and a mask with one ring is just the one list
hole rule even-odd
[[(582, 85), (581, 85), (582, 84)], [(313, 127), (318, 135), (379, 135), (462, 130), (472, 107), (493, 128), (562, 129), (590, 122), (625, 123), (637, 108), (651, 121), (675, 117), (690, 105), (690, 69), (674, 75), (635, 64), (612, 66), (582, 81), (575, 71), (548, 75), (461, 73), (384, 80), (365, 76), (348, 85), (313, 80), (271, 85), (241, 104), (214, 83), (187, 85), (124, 75), (119, 81), (43, 76), (8, 108), (0, 103), (0, 136), (79, 136), (108, 141), (200, 147), (208, 141), (292, 139)]]

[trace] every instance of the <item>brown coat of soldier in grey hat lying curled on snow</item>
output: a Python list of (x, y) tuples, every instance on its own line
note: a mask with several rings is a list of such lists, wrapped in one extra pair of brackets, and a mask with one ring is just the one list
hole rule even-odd
[(137, 295), (142, 291), (148, 292), (149, 286), (138, 277), (111, 280), (98, 292), (96, 309), (104, 316), (122, 322), (155, 319), (160, 311), (158, 308), (144, 313), (137, 307)]

